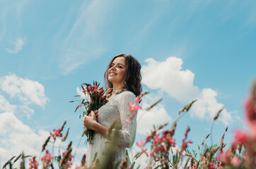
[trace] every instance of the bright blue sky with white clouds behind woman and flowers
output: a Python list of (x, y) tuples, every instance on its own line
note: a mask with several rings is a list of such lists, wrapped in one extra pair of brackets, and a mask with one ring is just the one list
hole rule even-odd
[[(38, 143), (64, 120), (76, 146), (82, 125), (69, 101), (83, 82), (103, 84), (120, 53), (142, 65), (143, 88), (151, 92), (142, 106), (163, 96), (141, 118), (136, 141), (199, 99), (178, 124), (178, 146), (190, 125), (197, 147), (222, 106), (214, 142), (228, 125), (231, 144), (235, 128), (246, 130), (243, 101), (256, 75), (255, 11), (254, 1), (0, 0), (0, 154), (8, 154), (1, 164), (23, 149), (37, 155)], [(81, 144), (77, 161), (84, 151)]]

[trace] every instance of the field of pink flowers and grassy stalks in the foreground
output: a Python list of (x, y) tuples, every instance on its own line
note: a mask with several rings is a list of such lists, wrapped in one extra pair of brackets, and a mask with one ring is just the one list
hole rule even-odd
[[(188, 149), (188, 144), (192, 144), (192, 141), (187, 139), (187, 135), (190, 132), (190, 127), (187, 127), (185, 131), (184, 138), (182, 139), (182, 144), (178, 151), (173, 151), (176, 146), (175, 142), (175, 129), (178, 125), (182, 115), (190, 110), (194, 102), (185, 105), (178, 112), (178, 117), (174, 121), (172, 127), (168, 130), (163, 130), (167, 124), (163, 124), (158, 127), (154, 127), (154, 130), (151, 131), (151, 134), (146, 136), (145, 139), (137, 142), (137, 146), (140, 147), (140, 151), (134, 156), (135, 161), (132, 161), (132, 164), (129, 165), (127, 158), (123, 161), (120, 161), (115, 166), (111, 166), (110, 158), (114, 153), (115, 149), (115, 139), (116, 134), (115, 123), (110, 127), (109, 133), (112, 135), (110, 146), (106, 151), (106, 156), (104, 158), (97, 159), (93, 161), (93, 165), (90, 168), (140, 168), (136, 164), (136, 159), (139, 158), (142, 154), (145, 154), (149, 157), (146, 168), (256, 168), (256, 82), (253, 82), (252, 88), (250, 90), (250, 96), (245, 101), (245, 115), (246, 122), (249, 131), (244, 132), (243, 130), (236, 130), (235, 137), (230, 147), (226, 147), (224, 143), (224, 137), (228, 131), (228, 127), (224, 130), (222, 137), (220, 138), (221, 142), (218, 144), (212, 144), (211, 146), (205, 144), (205, 140), (211, 138), (211, 135), (208, 134), (200, 145), (198, 149)], [(127, 123), (130, 123), (133, 120), (134, 115), (137, 113), (139, 106), (139, 101), (145, 93), (138, 96), (134, 103), (129, 103), (129, 119)], [(152, 104), (147, 110), (150, 110), (158, 104), (161, 100), (156, 101)], [(215, 117), (212, 119), (212, 125), (214, 121), (219, 118), (221, 110), (216, 113)], [(87, 169), (86, 166), (86, 154), (83, 155), (81, 159), (81, 164), (72, 166), (74, 163), (74, 156), (76, 152), (72, 151), (72, 142), (69, 143), (69, 146), (66, 148), (63, 154), (57, 153), (54, 155), (54, 142), (57, 137), (62, 138), (62, 142), (66, 140), (66, 137), (69, 134), (69, 129), (66, 130), (64, 134), (64, 126), (66, 122), (58, 130), (54, 129), (50, 136), (46, 139), (45, 144), (42, 145), (42, 151), (40, 156), (25, 156), (23, 153), (19, 156), (13, 156), (10, 158), (3, 166), (3, 168), (13, 168), (14, 163), (20, 163), (20, 168), (25, 168), (25, 163), (28, 163), (29, 168), (39, 168), (41, 165), (42, 168), (76, 168), (76, 169)], [(114, 131), (114, 133), (112, 132)], [(82, 137), (84, 135), (83, 131)], [(52, 145), (50, 145), (50, 142)], [(49, 144), (49, 145), (48, 145)], [(50, 153), (49, 149), (52, 146), (52, 152)], [(148, 148), (146, 148), (148, 147)]]

